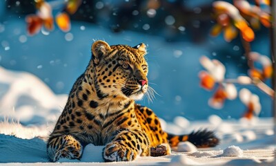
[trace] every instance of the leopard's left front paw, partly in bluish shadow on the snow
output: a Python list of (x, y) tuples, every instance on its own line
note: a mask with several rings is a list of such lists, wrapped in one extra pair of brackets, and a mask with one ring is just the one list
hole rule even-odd
[(47, 153), (53, 162), (60, 158), (79, 159), (82, 151), (81, 143), (70, 135), (50, 137), (48, 140)]

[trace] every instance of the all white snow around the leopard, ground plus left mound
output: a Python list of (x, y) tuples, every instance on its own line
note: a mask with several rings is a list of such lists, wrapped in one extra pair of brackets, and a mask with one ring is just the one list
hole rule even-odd
[[(0, 75), (0, 87), (6, 89), (0, 93), (2, 119), (0, 163), (57, 165), (48, 161), (46, 140), (55, 126), (67, 95), (55, 95), (48, 86), (30, 73), (8, 71), (0, 67)], [(221, 120), (218, 116), (211, 116), (208, 120), (201, 121), (189, 121), (184, 117), (178, 117), (174, 122), (161, 120), (161, 123), (165, 131), (175, 134), (190, 133), (202, 128), (213, 129), (221, 139), (220, 145), (215, 148), (197, 149), (189, 142), (181, 142), (168, 156), (138, 157), (132, 162), (103, 163), (101, 156), (103, 146), (90, 144), (84, 148), (81, 160), (61, 158), (58, 163), (59, 165), (273, 165), (275, 162), (276, 138), (272, 118), (255, 118), (249, 122)]]

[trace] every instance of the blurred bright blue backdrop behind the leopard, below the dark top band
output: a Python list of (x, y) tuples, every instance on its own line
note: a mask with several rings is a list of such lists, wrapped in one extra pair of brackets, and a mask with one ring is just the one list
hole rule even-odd
[[(199, 57), (206, 55), (219, 59), (226, 66), (226, 78), (235, 78), (247, 74), (244, 50), (239, 37), (233, 42), (225, 42), (222, 35), (210, 37), (204, 42), (191, 42), (190, 32), (181, 41), (168, 42), (162, 35), (137, 33), (122, 30), (120, 33), (103, 26), (81, 21), (72, 21), (70, 33), (72, 41), (65, 39), (66, 33), (57, 27), (49, 35), (39, 33), (30, 37), (26, 34), (25, 16), (12, 15), (6, 12), (4, 2), (0, 2), (0, 65), (15, 71), (28, 71), (37, 75), (48, 84), (55, 93), (69, 93), (72, 84), (85, 70), (91, 53), (90, 46), (94, 40), (101, 39), (108, 44), (128, 44), (135, 46), (144, 42), (148, 46), (146, 55), (149, 64), (148, 80), (157, 91), (153, 102), (147, 99), (139, 101), (157, 113), (157, 116), (171, 121), (175, 116), (184, 116), (188, 120), (206, 119), (212, 114), (221, 118), (240, 118), (246, 107), (237, 98), (227, 100), (223, 109), (212, 109), (208, 99), (213, 92), (199, 86), (199, 71), (204, 68), (199, 64)], [(196, 3), (194, 4), (196, 5)], [(81, 26), (85, 30), (81, 30)], [(2, 29), (2, 30), (1, 30)], [(3, 30), (4, 29), (4, 30)], [(20, 42), (19, 37), (27, 37)], [(270, 55), (268, 29), (257, 32), (251, 43), (253, 51)], [(5, 50), (8, 43), (10, 49)], [(181, 55), (175, 55), (177, 52)], [(1, 75), (0, 75), (1, 77)], [(152, 84), (151, 84), (152, 83)], [(270, 80), (266, 82), (270, 85)], [(272, 100), (255, 86), (241, 86), (259, 95), (261, 117), (272, 115)]]

